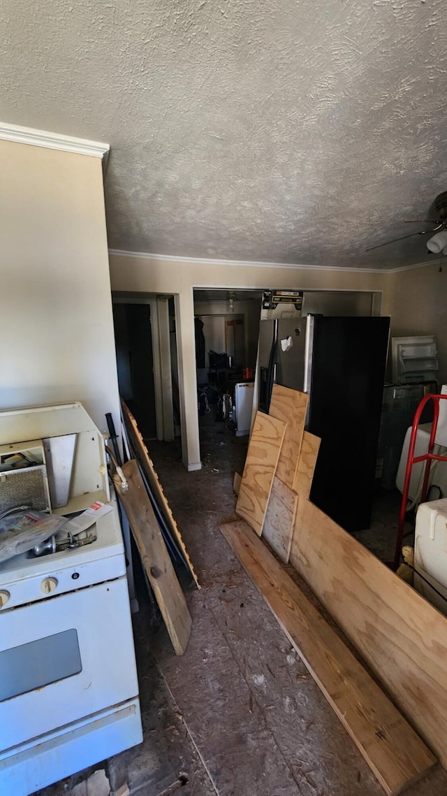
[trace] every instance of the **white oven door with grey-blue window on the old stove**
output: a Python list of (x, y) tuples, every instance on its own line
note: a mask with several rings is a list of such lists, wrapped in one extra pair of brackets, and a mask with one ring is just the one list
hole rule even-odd
[(0, 615), (3, 751), (134, 696), (126, 578)]

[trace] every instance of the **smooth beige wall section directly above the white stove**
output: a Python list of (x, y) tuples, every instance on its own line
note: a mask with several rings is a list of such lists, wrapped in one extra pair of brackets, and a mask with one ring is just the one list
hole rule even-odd
[(100, 158), (0, 141), (0, 408), (119, 421)]

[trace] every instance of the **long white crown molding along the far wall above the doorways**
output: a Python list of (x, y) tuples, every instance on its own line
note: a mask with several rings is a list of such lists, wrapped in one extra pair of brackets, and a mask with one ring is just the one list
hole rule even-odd
[[(236, 265), (248, 268), (282, 268), (282, 269), (290, 269), (292, 271), (344, 271), (348, 273), (354, 274), (395, 274), (398, 271), (410, 271), (412, 268), (422, 268), (426, 265), (430, 265), (434, 262), (434, 259), (430, 261), (430, 263), (414, 263), (414, 265), (402, 265), (397, 268), (358, 268), (358, 267), (348, 267), (348, 266), (337, 266), (337, 265), (305, 265), (303, 264), (291, 264), (291, 263), (263, 263), (263, 262), (251, 262), (250, 260), (244, 259), (212, 259), (206, 257), (181, 257), (181, 256), (170, 256), (166, 254), (150, 254), (150, 252), (126, 252), (123, 249), (109, 249), (109, 254), (117, 257), (135, 257), (137, 259), (151, 259), (151, 260), (161, 260), (161, 262), (166, 263), (204, 263), (205, 265)], [(233, 286), (234, 288), (234, 286)], [(242, 288), (238, 288), (242, 289)]]

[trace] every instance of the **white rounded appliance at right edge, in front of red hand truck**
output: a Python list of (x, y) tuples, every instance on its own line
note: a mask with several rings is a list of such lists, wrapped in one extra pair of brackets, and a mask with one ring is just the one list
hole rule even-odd
[(418, 508), (414, 535), (414, 569), (414, 588), (439, 611), (447, 615), (447, 499), (445, 498), (422, 503)]

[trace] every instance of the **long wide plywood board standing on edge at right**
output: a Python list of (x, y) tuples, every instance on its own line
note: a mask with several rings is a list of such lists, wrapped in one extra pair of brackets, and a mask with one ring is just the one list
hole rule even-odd
[(290, 563), (447, 767), (447, 618), (309, 501)]

